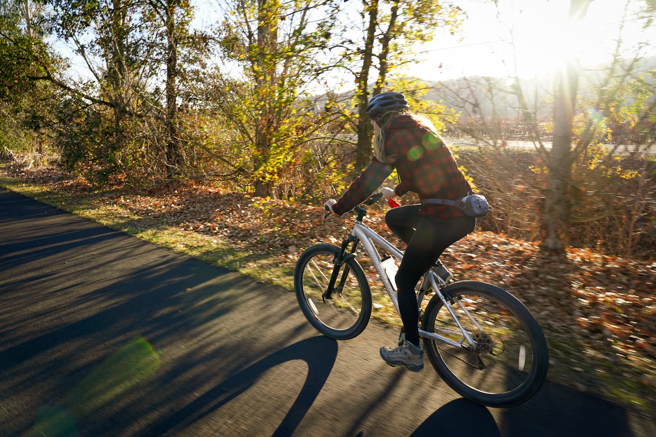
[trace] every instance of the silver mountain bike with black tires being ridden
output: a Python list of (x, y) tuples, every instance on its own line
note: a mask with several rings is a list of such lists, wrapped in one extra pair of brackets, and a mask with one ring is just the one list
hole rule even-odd
[[(371, 196), (363, 205), (373, 204), (380, 196)], [(324, 243), (308, 247), (294, 272), (304, 316), (320, 333), (336, 340), (357, 337), (371, 318), (371, 289), (356, 260), (359, 244), (399, 312), (394, 287), (380, 265), (375, 245), (398, 260), (403, 253), (363, 223), (367, 213), (363, 207), (354, 210), (353, 230), (340, 247)], [(434, 295), (422, 309), (428, 291)], [(549, 361), (544, 334), (531, 312), (510, 293), (481, 281), (447, 283), (429, 269), (420, 281), (417, 303), (426, 355), (455, 392), (484, 406), (512, 407), (540, 390)]]

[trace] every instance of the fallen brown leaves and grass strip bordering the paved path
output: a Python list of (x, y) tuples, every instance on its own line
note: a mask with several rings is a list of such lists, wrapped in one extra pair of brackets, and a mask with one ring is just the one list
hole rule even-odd
[[(26, 191), (20, 182), (41, 186), (39, 199), (62, 209), (113, 207), (105, 213), (121, 211), (136, 223), (136, 231), (130, 226), (124, 230), (173, 232), (175, 241), (165, 245), (288, 289), (293, 289), (291, 274), (306, 247), (338, 245), (352, 227), (352, 213), (324, 219), (323, 207), (226, 192), (202, 182), (176, 180), (150, 189), (114, 183), (98, 192), (85, 178), (56, 168), (26, 171), (5, 165), (0, 173), (4, 184), (19, 192)], [(365, 223), (404, 249), (384, 224), (380, 205), (370, 207)], [(473, 232), (441, 259), (456, 279), (498, 285), (531, 310), (549, 345), (550, 379), (643, 411), (656, 410), (655, 260), (574, 247), (558, 255), (541, 250), (537, 242), (491, 232)], [(373, 318), (400, 325), (371, 262), (366, 257), (358, 261), (371, 285)]]

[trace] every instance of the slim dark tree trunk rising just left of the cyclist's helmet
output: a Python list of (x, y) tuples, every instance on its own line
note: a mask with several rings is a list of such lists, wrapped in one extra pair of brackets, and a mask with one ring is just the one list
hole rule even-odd
[[(373, 57), (373, 42), (376, 35), (378, 16), (378, 0), (371, 1), (369, 6), (369, 27), (367, 28), (367, 40), (365, 42), (364, 56), (362, 60), (362, 69), (358, 75), (358, 100), (359, 100), (359, 118), (358, 118), (358, 143), (356, 144), (356, 168), (355, 173), (359, 173), (369, 163), (371, 159), (371, 136), (373, 136), (373, 127), (367, 116), (367, 102), (369, 101), (369, 69)], [(374, 94), (375, 95), (375, 94)]]

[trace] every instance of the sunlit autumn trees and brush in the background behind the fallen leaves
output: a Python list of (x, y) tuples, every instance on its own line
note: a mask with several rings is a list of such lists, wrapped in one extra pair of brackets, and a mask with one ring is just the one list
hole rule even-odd
[[(348, 29), (342, 1), (219, 3), (224, 18), (195, 30), (187, 0), (3, 2), (0, 154), (28, 168), (58, 165), (98, 189), (183, 178), (321, 203), (340, 196), (371, 157), (363, 104), (403, 91), (449, 141), (470, 141), (453, 140), (459, 164), (493, 206), (480, 226), (546, 237), (558, 77), (539, 94), (519, 77), (403, 76), (399, 67), (419, 60), (415, 44), (440, 26), (457, 32), (466, 19), (446, 2), (353, 3), (361, 20)], [(87, 73), (56, 41), (72, 47)], [(621, 55), (581, 75), (572, 97), (559, 238), (653, 258), (656, 173), (645, 152), (656, 136), (656, 70)], [(341, 83), (329, 80), (336, 75)], [(507, 114), (501, 108), (511, 100)], [(534, 147), (515, 150), (513, 141)]]

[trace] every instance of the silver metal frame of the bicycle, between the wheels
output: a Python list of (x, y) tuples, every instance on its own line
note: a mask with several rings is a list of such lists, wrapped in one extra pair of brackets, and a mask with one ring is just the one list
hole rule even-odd
[[(359, 216), (358, 216), (358, 218), (359, 218)], [(365, 252), (369, 256), (369, 259), (371, 259), (371, 264), (373, 264), (374, 268), (376, 269), (376, 272), (378, 273), (378, 276), (379, 276), (380, 280), (382, 281), (382, 285), (384, 286), (385, 291), (387, 292), (390, 299), (392, 299), (392, 303), (394, 304), (394, 308), (396, 308), (397, 314), (401, 314), (400, 311), (399, 311), (399, 303), (398, 303), (398, 299), (396, 297), (396, 292), (392, 288), (392, 284), (390, 283), (390, 280), (387, 278), (387, 275), (385, 274), (384, 270), (382, 269), (382, 266), (380, 265), (380, 254), (377, 251), (377, 249), (375, 247), (375, 244), (379, 245), (380, 247), (382, 247), (383, 249), (385, 249), (386, 251), (391, 253), (392, 256), (395, 257), (398, 260), (403, 259), (403, 252), (401, 252), (399, 249), (394, 247), (394, 245), (392, 243), (390, 243), (386, 239), (379, 236), (379, 234), (377, 234), (374, 230), (369, 228), (369, 226), (367, 226), (366, 224), (363, 224), (363, 222), (361, 220), (356, 220), (356, 222), (353, 226), (353, 230), (351, 231), (351, 236), (357, 238), (362, 243), (362, 247), (364, 248)], [(356, 240), (355, 244), (357, 244), (358, 240)], [(458, 320), (457, 316), (455, 315), (455, 313), (451, 309), (451, 305), (449, 304), (449, 300), (453, 301), (453, 299), (451, 299), (451, 297), (448, 297), (448, 295), (445, 297), (445, 293), (443, 293), (443, 291), (442, 291), (442, 288), (445, 285), (445, 282), (442, 280), (442, 278), (440, 278), (440, 276), (435, 274), (435, 272), (433, 272), (432, 270), (428, 270), (427, 274), (428, 274), (428, 281), (430, 281), (433, 289), (440, 296), (442, 304), (445, 306), (445, 308), (447, 308), (447, 310), (449, 311), (449, 314), (451, 314), (451, 317), (453, 318), (453, 320), (455, 320), (458, 327), (460, 328), (460, 330), (462, 332), (462, 338), (461, 338), (460, 341), (454, 342), (454, 341), (451, 341), (449, 339), (446, 339), (445, 337), (442, 337), (441, 335), (431, 333), (431, 332), (428, 332), (428, 331), (423, 331), (422, 329), (419, 329), (419, 336), (429, 338), (429, 339), (432, 339), (434, 341), (439, 341), (441, 343), (450, 344), (451, 346), (457, 346), (457, 347), (462, 347), (462, 348), (467, 348), (467, 346), (464, 345), (464, 341), (466, 340), (466, 341), (468, 341), (468, 343), (470, 345), (475, 346), (476, 342), (472, 340), (472, 337), (469, 335), (469, 333), (466, 331), (466, 329), (464, 329), (462, 327), (462, 325), (461, 325), (460, 321)], [(417, 295), (417, 304), (419, 306), (421, 304), (422, 299), (424, 299), (424, 289), (423, 289), (423, 287), (424, 287), (425, 283), (426, 283), (426, 275), (424, 275), (424, 280), (422, 281), (422, 287), (420, 288), (419, 295)], [(448, 299), (447, 299), (447, 297), (448, 297)], [(468, 310), (464, 307), (462, 302), (459, 301), (459, 300), (456, 300), (456, 302), (458, 302), (461, 309), (464, 311), (465, 314), (467, 314), (467, 316), (469, 316), (469, 318), (472, 320), (472, 322), (474, 322), (474, 324), (478, 327), (478, 329), (482, 330), (480, 325), (478, 325), (476, 320), (474, 320), (474, 318), (471, 316), (471, 314), (469, 314)]]

